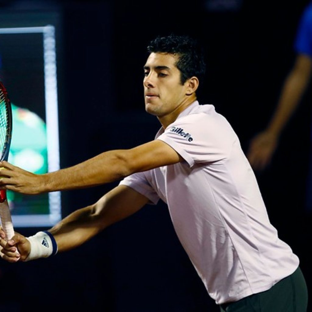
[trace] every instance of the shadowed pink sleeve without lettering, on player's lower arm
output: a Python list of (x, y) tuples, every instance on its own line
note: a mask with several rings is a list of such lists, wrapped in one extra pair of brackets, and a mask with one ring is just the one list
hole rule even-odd
[(120, 181), (119, 185), (126, 185), (129, 188), (134, 189), (147, 197), (150, 204), (156, 205), (159, 200), (159, 196), (148, 181), (149, 175), (149, 171), (134, 173)]

